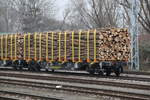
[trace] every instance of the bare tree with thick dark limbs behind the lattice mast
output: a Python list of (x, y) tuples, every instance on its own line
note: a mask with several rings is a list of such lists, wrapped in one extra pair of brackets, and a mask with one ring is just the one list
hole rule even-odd
[[(118, 0), (120, 5), (123, 6), (126, 16), (126, 21), (128, 25), (130, 25), (130, 12), (131, 8), (131, 1), (130, 0)], [(140, 25), (150, 33), (150, 0), (139, 0), (139, 13), (138, 13), (138, 21)]]

